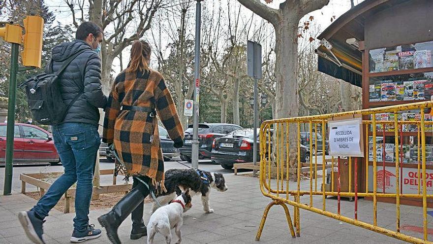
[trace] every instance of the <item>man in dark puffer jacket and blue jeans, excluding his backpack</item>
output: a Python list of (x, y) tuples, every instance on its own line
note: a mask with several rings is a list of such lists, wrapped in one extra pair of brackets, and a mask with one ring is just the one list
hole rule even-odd
[[(60, 70), (63, 62), (78, 55), (59, 77), (62, 99), (65, 104), (78, 95), (63, 122), (53, 126), (53, 139), (64, 174), (48, 189), (30, 211), (20, 212), (18, 217), (33, 243), (43, 244), (43, 219), (57, 204), (62, 195), (77, 182), (75, 194), (74, 231), (70, 239), (81, 243), (101, 235), (99, 229), (89, 225), (89, 206), (92, 198), (92, 180), (100, 139), (98, 133), (98, 107), (105, 108), (107, 97), (102, 93), (101, 60), (99, 58), (102, 30), (92, 22), (81, 24), (72, 42), (62, 43), (52, 50), (52, 58), (46, 67)], [(62, 230), (60, 230), (62, 231)]]

